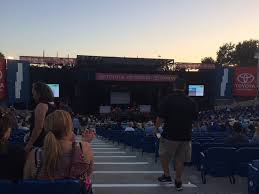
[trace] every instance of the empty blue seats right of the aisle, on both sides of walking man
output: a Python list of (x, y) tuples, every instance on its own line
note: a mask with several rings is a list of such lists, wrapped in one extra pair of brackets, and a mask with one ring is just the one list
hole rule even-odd
[[(106, 129), (104, 126), (97, 128), (96, 132), (114, 143), (122, 143), (132, 149), (138, 148), (142, 153), (153, 153), (156, 161), (159, 157), (158, 139), (145, 136), (144, 132), (124, 132), (117, 128)], [(256, 190), (259, 193), (259, 145), (227, 145), (224, 142), (228, 136), (229, 134), (225, 132), (193, 133), (190, 165), (196, 166), (201, 171), (201, 180), (204, 184), (207, 183), (206, 175), (229, 177), (231, 184), (235, 184), (235, 176), (248, 177), (249, 190)], [(251, 135), (249, 137), (251, 138)], [(257, 163), (253, 163), (257, 159)]]

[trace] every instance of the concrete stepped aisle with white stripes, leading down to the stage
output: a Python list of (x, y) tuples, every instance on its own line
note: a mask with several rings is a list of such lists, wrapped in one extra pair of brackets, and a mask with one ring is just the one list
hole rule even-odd
[[(92, 148), (95, 156), (92, 182), (97, 194), (178, 193), (174, 184), (158, 183), (157, 177), (163, 172), (154, 159), (101, 139), (95, 139)], [(182, 193), (197, 193), (198, 187), (188, 182), (184, 180)]]

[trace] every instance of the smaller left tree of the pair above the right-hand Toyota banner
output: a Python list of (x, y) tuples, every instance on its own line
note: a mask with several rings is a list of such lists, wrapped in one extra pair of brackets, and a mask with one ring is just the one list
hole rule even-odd
[(219, 47), (217, 52), (217, 63), (221, 66), (227, 66), (235, 63), (235, 45), (226, 43)]

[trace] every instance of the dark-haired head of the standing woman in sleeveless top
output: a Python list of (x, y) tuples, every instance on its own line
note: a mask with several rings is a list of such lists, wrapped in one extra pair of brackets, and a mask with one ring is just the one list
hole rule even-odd
[(54, 95), (50, 87), (42, 82), (36, 82), (32, 86), (32, 96), (36, 102), (53, 102)]

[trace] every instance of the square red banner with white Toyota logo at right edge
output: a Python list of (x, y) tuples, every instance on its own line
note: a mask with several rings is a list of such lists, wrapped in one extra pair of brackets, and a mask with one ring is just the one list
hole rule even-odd
[(257, 67), (237, 67), (235, 69), (233, 95), (256, 96)]

